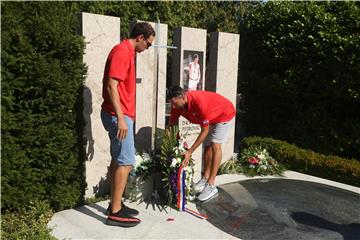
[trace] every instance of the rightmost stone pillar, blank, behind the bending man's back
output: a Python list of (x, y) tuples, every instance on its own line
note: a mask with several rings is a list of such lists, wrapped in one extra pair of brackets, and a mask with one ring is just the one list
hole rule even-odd
[[(240, 35), (215, 32), (210, 34), (209, 77), (206, 90), (217, 92), (229, 99), (236, 108)], [(235, 122), (228, 141), (223, 144), (223, 161), (234, 153)]]

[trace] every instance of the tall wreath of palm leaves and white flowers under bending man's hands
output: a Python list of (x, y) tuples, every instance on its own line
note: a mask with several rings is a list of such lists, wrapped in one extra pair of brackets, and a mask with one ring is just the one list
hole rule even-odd
[[(183, 161), (182, 152), (186, 151), (188, 145), (185, 137), (180, 136), (177, 126), (169, 128), (163, 135), (163, 142), (161, 145), (160, 165), (162, 172), (162, 182), (167, 190), (168, 204), (176, 204), (176, 197), (178, 194), (177, 181), (178, 169)], [(192, 182), (194, 177), (194, 161), (190, 159), (189, 164), (184, 168), (186, 179), (186, 200), (193, 200), (195, 198), (192, 189)]]

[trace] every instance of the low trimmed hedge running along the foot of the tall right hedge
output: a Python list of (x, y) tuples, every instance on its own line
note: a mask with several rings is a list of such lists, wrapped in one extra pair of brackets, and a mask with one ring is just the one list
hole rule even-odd
[(267, 149), (274, 159), (290, 170), (360, 187), (360, 162), (356, 159), (323, 155), (284, 141), (261, 137), (244, 138), (241, 149), (253, 145)]

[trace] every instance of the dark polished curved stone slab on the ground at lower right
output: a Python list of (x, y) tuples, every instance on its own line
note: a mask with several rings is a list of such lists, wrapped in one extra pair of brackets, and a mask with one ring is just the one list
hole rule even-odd
[(360, 194), (315, 182), (256, 179), (224, 184), (197, 203), (219, 229), (241, 239), (360, 239)]

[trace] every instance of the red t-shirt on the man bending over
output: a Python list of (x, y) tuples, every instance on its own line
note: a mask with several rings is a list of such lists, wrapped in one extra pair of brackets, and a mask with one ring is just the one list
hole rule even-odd
[(215, 92), (191, 91), (185, 93), (187, 109), (171, 109), (170, 123), (176, 123), (181, 116), (192, 123), (205, 127), (209, 124), (228, 122), (235, 116), (234, 105)]

